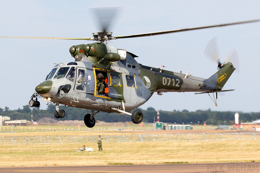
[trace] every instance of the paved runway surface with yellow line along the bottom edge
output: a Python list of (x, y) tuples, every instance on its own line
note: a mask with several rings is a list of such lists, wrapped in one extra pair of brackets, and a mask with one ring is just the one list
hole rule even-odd
[(243, 163), (196, 163), (196, 164), (156, 164), (156, 165), (101, 165), (68, 167), (15, 167), (0, 168), (0, 172), (53, 172), (53, 173), (147, 173), (147, 172), (260, 172), (260, 162)]

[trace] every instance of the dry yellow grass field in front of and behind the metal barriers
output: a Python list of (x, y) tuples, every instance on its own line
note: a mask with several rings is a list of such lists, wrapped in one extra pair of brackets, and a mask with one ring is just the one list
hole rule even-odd
[[(162, 131), (163, 132), (163, 131)], [(84, 134), (83, 134), (84, 133)], [(134, 135), (137, 132), (74, 131), (1, 135)], [(146, 132), (143, 132), (144, 134)], [(260, 162), (259, 140), (85, 143), (94, 152), (75, 152), (83, 144), (0, 145), (0, 167)]]

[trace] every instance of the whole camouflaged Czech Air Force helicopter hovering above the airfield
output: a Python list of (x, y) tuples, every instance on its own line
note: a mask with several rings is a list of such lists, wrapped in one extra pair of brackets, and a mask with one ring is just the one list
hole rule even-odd
[[(100, 111), (126, 114), (131, 116), (133, 123), (142, 122), (142, 111), (136, 108), (143, 105), (155, 92), (158, 95), (162, 95), (164, 92), (216, 93), (217, 99), (218, 92), (234, 90), (222, 90), (235, 70), (231, 62), (218, 62), (219, 70), (208, 79), (204, 79), (194, 77), (189, 72), (182, 74), (167, 71), (163, 69), (164, 66), (160, 69), (139, 64), (135, 60), (138, 56), (126, 49), (118, 49), (109, 45), (109, 40), (259, 21), (260, 19), (125, 36), (112, 36), (112, 32), (108, 32), (106, 26), (103, 31), (93, 33), (92, 38), (1, 37), (96, 41), (70, 47), (69, 52), (74, 60), (56, 64), (45, 80), (35, 87), (35, 93), (29, 101), (31, 107), (39, 107), (40, 102), (37, 98), (41, 97), (44, 98), (44, 101), (48, 101), (47, 105), (55, 104), (54, 116), (56, 118), (64, 118), (66, 115), (63, 109), (59, 109), (59, 105), (90, 109), (91, 113), (84, 116), (84, 123), (87, 127), (92, 128), (95, 126), (94, 115)], [(217, 106), (217, 102), (215, 105)]]

